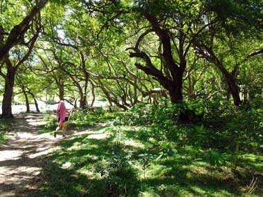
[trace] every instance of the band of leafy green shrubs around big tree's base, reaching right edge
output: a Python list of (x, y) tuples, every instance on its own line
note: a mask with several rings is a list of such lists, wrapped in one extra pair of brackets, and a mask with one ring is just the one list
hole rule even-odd
[(139, 104), (116, 118), (114, 125), (147, 125), (140, 130), (141, 135), (158, 141), (176, 140), (178, 144), (229, 152), (260, 151), (255, 144), (263, 140), (261, 108), (258, 101), (240, 108), (203, 100), (187, 104)]

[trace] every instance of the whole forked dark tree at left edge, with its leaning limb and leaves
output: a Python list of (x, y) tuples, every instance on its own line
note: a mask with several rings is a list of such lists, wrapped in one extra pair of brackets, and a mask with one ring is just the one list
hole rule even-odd
[[(40, 10), (47, 3), (47, 0), (37, 1), (28, 15), (18, 24), (13, 26), (10, 32), (6, 32), (5, 27), (0, 27), (0, 75), (5, 79), (5, 91), (2, 102), (2, 117), (12, 118), (12, 91), (15, 84), (15, 73), (17, 68), (23, 64), (33, 50), (35, 41), (42, 30)], [(3, 4), (2, 4), (3, 6)], [(8, 12), (8, 11), (7, 11)], [(7, 13), (3, 12), (4, 17)], [(1, 16), (1, 17), (2, 17)], [(12, 24), (12, 22), (10, 21)], [(6, 24), (10, 26), (10, 24)], [(30, 31), (28, 32), (28, 30)], [(26, 38), (28, 41), (26, 42)], [(10, 52), (10, 50), (12, 51)], [(12, 55), (10, 54), (12, 53)], [(10, 59), (10, 57), (17, 57)], [(6, 74), (3, 73), (3, 65), (6, 65)]]

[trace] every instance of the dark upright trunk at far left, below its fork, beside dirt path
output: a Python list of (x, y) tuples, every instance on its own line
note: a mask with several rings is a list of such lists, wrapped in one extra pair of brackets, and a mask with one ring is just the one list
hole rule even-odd
[(5, 91), (3, 93), (2, 117), (13, 118), (12, 115), (12, 91), (15, 84), (15, 72), (17, 68), (7, 66)]

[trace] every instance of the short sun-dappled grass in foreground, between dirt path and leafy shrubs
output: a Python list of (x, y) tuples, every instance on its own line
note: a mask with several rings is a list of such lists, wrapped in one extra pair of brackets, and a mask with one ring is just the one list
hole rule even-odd
[[(136, 126), (100, 126), (63, 140), (60, 151), (46, 156), (44, 185), (34, 194), (262, 196), (258, 188), (246, 194), (253, 176), (262, 181), (262, 155), (226, 155), (226, 165), (216, 167), (210, 166), (202, 151), (188, 146), (159, 158), (164, 150), (145, 140), (141, 131)], [(96, 139), (102, 134), (107, 137)], [(70, 167), (64, 169), (68, 162)]]

